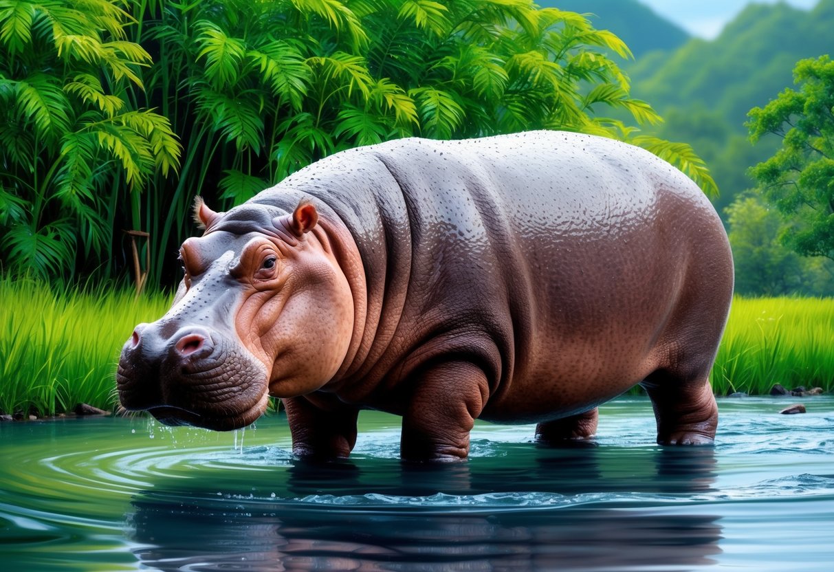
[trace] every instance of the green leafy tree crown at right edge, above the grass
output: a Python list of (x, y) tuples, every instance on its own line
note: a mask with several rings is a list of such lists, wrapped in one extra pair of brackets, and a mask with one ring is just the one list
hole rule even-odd
[(787, 88), (750, 111), (751, 140), (782, 138), (771, 158), (751, 169), (782, 215), (783, 243), (804, 256), (834, 259), (834, 62), (796, 63), (798, 89)]

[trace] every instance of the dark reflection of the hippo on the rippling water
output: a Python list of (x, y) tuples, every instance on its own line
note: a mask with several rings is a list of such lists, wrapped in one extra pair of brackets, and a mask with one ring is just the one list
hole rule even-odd
[(128, 520), (163, 570), (691, 569), (721, 552), (717, 517), (664, 504), (709, 492), (715, 464), (710, 447), (529, 444), (440, 466), (296, 461), (161, 480)]

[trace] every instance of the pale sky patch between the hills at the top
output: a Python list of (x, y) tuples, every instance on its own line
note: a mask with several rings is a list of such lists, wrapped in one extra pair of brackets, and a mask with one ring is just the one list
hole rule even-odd
[[(671, 20), (693, 36), (712, 39), (751, 0), (640, 0), (656, 13)], [(774, 4), (777, 0), (755, 0)], [(816, 0), (782, 0), (796, 8), (812, 8)]]

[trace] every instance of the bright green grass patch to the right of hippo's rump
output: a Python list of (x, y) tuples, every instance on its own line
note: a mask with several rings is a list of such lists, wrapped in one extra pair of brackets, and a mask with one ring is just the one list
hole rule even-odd
[(834, 388), (834, 299), (733, 299), (711, 374), (716, 394), (773, 384)]

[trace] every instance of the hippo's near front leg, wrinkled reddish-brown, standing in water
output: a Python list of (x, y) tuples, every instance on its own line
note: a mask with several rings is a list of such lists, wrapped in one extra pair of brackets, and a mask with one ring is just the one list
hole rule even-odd
[(466, 362), (436, 364), (420, 374), (403, 414), (400, 456), (409, 461), (466, 459), (470, 431), (484, 409), (489, 384)]

